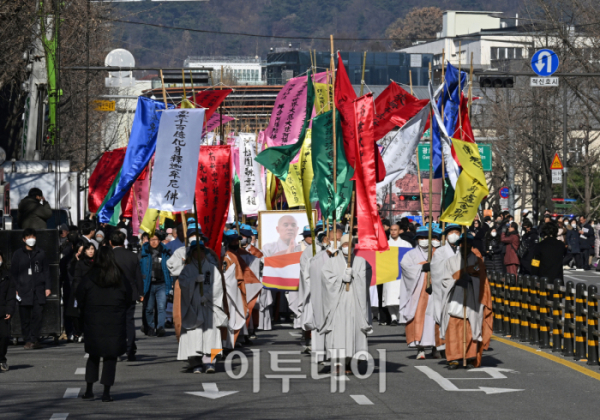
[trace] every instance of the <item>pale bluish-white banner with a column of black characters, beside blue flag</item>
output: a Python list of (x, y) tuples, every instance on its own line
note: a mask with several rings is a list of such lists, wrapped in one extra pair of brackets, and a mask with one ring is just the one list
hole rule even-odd
[(164, 211), (194, 208), (204, 108), (163, 111), (148, 207)]

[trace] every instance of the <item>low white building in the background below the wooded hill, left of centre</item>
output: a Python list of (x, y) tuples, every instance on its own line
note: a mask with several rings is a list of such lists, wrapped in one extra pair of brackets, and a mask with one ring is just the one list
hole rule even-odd
[(232, 74), (240, 85), (261, 86), (266, 82), (260, 58), (256, 57), (193, 57), (189, 56), (184, 62), (186, 68), (212, 67), (213, 83), (220, 80), (221, 68), (223, 74)]

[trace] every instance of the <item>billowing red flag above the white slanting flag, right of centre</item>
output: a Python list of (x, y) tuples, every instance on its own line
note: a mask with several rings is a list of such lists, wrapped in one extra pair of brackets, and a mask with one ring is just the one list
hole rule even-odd
[(396, 82), (390, 83), (375, 99), (375, 120), (373, 121), (375, 141), (382, 139), (394, 127), (402, 127), (428, 104), (429, 99), (419, 100), (402, 89)]

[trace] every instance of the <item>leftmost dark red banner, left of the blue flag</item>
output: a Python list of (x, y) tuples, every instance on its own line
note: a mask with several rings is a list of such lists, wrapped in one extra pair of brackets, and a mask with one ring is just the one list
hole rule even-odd
[(119, 174), (125, 159), (125, 147), (104, 152), (92, 176), (88, 180), (88, 208), (91, 213), (96, 213), (104, 201), (108, 190)]

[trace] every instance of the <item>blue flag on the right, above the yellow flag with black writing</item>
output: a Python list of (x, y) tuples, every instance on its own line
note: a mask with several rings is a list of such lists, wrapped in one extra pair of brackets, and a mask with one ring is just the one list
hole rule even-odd
[[(454, 137), (456, 122), (458, 121), (458, 107), (460, 106), (460, 91), (458, 89), (458, 69), (448, 63), (446, 66), (445, 86), (437, 107), (444, 113), (442, 115), (446, 132), (450, 137)], [(467, 73), (460, 72), (460, 88), (464, 89), (467, 83)], [(431, 135), (433, 136), (433, 177), (442, 178), (442, 144), (440, 141), (440, 127), (435, 118), (433, 118)]]

